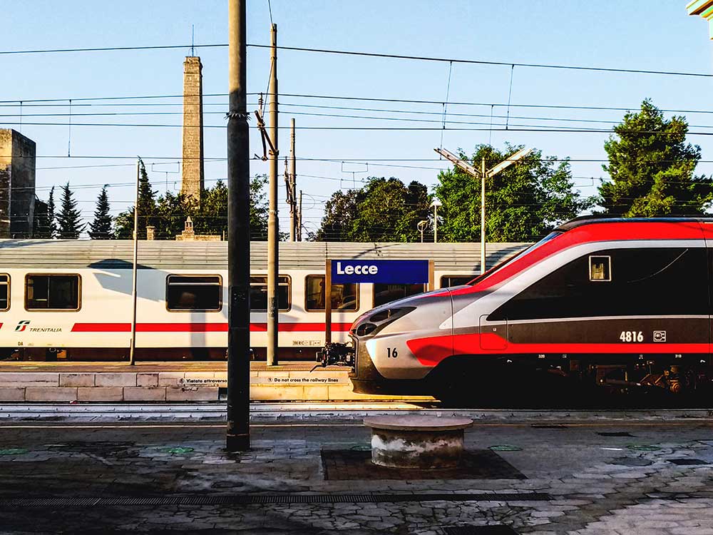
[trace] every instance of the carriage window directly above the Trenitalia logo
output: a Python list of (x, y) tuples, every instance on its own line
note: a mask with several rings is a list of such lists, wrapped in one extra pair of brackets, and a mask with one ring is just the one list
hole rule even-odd
[(79, 275), (26, 275), (26, 310), (79, 310)]

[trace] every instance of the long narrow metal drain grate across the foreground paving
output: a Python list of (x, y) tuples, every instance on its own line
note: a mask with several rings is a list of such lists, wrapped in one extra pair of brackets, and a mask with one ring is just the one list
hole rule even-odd
[(477, 494), (231, 494), (222, 496), (107, 496), (103, 498), (0, 498), (1, 509), (14, 507), (110, 507), (253, 504), (381, 504), (403, 501), (548, 501), (543, 492)]

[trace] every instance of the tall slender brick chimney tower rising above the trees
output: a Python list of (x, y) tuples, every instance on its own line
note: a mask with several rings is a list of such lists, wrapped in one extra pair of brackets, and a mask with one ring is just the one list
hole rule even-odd
[(198, 56), (183, 62), (181, 193), (200, 202), (203, 191), (203, 87)]

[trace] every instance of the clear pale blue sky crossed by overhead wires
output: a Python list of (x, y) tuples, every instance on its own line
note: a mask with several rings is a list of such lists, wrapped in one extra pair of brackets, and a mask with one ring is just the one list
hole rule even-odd
[[(157, 0), (106, 2), (54, 1), (13, 2), (2, 6), (1, 50), (57, 49), (106, 46), (150, 46), (190, 44), (191, 24), (196, 44), (227, 42), (227, 2), (215, 0)], [(638, 68), (657, 71), (713, 73), (713, 42), (705, 21), (687, 16), (684, 0), (635, 0), (627, 2), (582, 0), (517, 0), (511, 2), (459, 1), (322, 1), (272, 0), (272, 19), (277, 23), (279, 44), (284, 46), (384, 52), (414, 56), (469, 58), (517, 63), (550, 63), (577, 66)], [(267, 44), (270, 14), (267, 0), (248, 0), (248, 41)], [(41, 98), (75, 99), (73, 123), (150, 123), (180, 125), (181, 99), (136, 99), (92, 101), (78, 106), (78, 98), (180, 95), (183, 58), (187, 49), (169, 51), (108, 51), (72, 54), (31, 54), (0, 56), (0, 101), (29, 101)], [(198, 49), (203, 63), (205, 94), (227, 89), (227, 49)], [(248, 91), (265, 91), (269, 63), (267, 51), (248, 50)], [(448, 63), (406, 61), (354, 56), (328, 56), (281, 51), (278, 58), (281, 93), (404, 98), (443, 101), (446, 97)], [(450, 101), (507, 103), (511, 81), (509, 66), (453, 64)], [(635, 109), (643, 98), (652, 98), (660, 108), (711, 110), (706, 98), (713, 78), (655, 76), (649, 74), (601, 73), (516, 67), (511, 103), (616, 106)], [(161, 103), (164, 106), (153, 106)], [(205, 124), (224, 126), (226, 98), (205, 97)], [(297, 113), (339, 113), (344, 115), (426, 118), (440, 121), (440, 104), (374, 103), (333, 101), (319, 98), (282, 97), (280, 124), (289, 126), (438, 126), (434, 123), (377, 121), (374, 119), (327, 118)], [(60, 106), (22, 108), (21, 131), (37, 143), (37, 186), (46, 198), (51, 185), (67, 180), (76, 188), (86, 218), (91, 218), (101, 184), (112, 185), (109, 192), (113, 212), (132, 203), (134, 180), (131, 161), (118, 158), (85, 159), (81, 156), (123, 156), (145, 158), (150, 178), (159, 193), (180, 188), (178, 159), (180, 128), (98, 127), (71, 128), (71, 154), (66, 158), (68, 117), (31, 117), (31, 113), (68, 113), (68, 102)], [(84, 103), (87, 104), (87, 103)], [(145, 105), (149, 106), (145, 106)], [(249, 98), (250, 109), (256, 107)], [(292, 106), (287, 106), (292, 104)], [(387, 112), (329, 110), (311, 106), (379, 108)], [(399, 111), (431, 112), (427, 114)], [(163, 116), (78, 116), (79, 113), (173, 112)], [(451, 121), (483, 122), (464, 125), (478, 128), (490, 123), (491, 106), (449, 106)], [(493, 108), (494, 123), (503, 122), (507, 110)], [(19, 106), (0, 106), (0, 128), (19, 121), (9, 117)], [(608, 127), (607, 123), (565, 123), (535, 118), (573, 118), (590, 121), (619, 121), (620, 111), (578, 111), (548, 108), (510, 108), (510, 125), (556, 125)], [(482, 115), (483, 117), (476, 117)], [(713, 131), (713, 113), (686, 113), (692, 131)], [(522, 118), (521, 118), (522, 117)], [(63, 123), (62, 126), (31, 126), (27, 123)], [(455, 125), (451, 125), (455, 126)], [(19, 126), (12, 126), (19, 128)], [(704, 128), (706, 127), (706, 128)], [(289, 152), (289, 131), (280, 131), (282, 155)], [(491, 137), (492, 136), (492, 137)], [(540, 148), (545, 155), (569, 156), (575, 160), (605, 158), (604, 133), (525, 133), (488, 131), (448, 131), (443, 147), (471, 152), (478, 143), (492, 140), (501, 147), (506, 141)], [(713, 140), (691, 136), (703, 149), (703, 159), (713, 161)], [(435, 158), (441, 145), (441, 131), (298, 131), (300, 158), (328, 158), (326, 161), (299, 161), (298, 187), (304, 190), (304, 223), (315, 230), (324, 200), (339, 187), (352, 185), (369, 175), (396, 176), (408, 182), (436, 182), (438, 161), (408, 162), (384, 159)], [(251, 152), (259, 152), (260, 139), (252, 133)], [(60, 156), (50, 158), (48, 156)], [(206, 128), (205, 157), (225, 158), (225, 129)], [(165, 158), (165, 159), (159, 159)], [(366, 165), (342, 165), (350, 159), (371, 160)], [(382, 161), (378, 161), (382, 160)], [(165, 163), (165, 162), (173, 163)], [(163, 162), (161, 165), (159, 163)], [(154, 165), (151, 165), (151, 164)], [(116, 167), (80, 168), (83, 165)], [(413, 167), (387, 167), (411, 165)], [(595, 193), (593, 180), (603, 176), (600, 163), (573, 162), (575, 183), (581, 191)], [(57, 169), (63, 167), (62, 169)], [(419, 168), (415, 168), (419, 167)], [(282, 165), (280, 166), (282, 170)], [(168, 172), (168, 174), (167, 174)], [(713, 173), (713, 163), (701, 163), (699, 173)], [(252, 173), (267, 173), (267, 163), (252, 163)], [(212, 185), (225, 178), (225, 161), (206, 162), (205, 178)], [(314, 176), (306, 176), (314, 175)], [(326, 177), (326, 178), (314, 178)], [(119, 185), (126, 184), (126, 185)], [(284, 185), (279, 188), (284, 199)], [(280, 205), (282, 227), (289, 213)]]

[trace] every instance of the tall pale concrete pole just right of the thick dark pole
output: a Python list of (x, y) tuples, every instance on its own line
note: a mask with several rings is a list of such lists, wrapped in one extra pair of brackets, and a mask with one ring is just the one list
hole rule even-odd
[(270, 213), (267, 216), (267, 365), (276, 366), (279, 325), (277, 275), (279, 222), (277, 218), (277, 24), (270, 28)]

